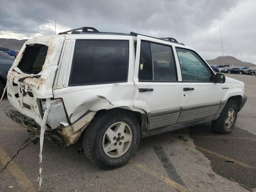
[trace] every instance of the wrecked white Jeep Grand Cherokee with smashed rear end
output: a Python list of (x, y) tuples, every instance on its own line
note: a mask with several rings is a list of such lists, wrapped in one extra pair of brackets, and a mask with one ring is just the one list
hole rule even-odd
[(28, 40), (7, 92), (12, 120), (39, 136), (45, 119), (44, 136), (61, 146), (82, 136), (102, 168), (128, 162), (143, 137), (209, 121), (230, 133), (247, 99), (243, 82), (174, 38), (91, 27)]

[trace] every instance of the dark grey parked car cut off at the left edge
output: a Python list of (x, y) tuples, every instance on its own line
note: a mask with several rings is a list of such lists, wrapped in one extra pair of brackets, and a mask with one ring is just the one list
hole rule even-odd
[(0, 98), (2, 96), (6, 81), (7, 73), (13, 64), (14, 58), (0, 51)]

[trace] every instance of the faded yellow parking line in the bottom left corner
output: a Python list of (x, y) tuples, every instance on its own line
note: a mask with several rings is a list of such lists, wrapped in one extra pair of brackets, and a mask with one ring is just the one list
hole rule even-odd
[[(6, 154), (2, 148), (0, 148), (0, 163), (3, 165), (6, 165), (11, 158)], [(36, 188), (32, 185), (30, 180), (28, 180), (26, 174), (20, 170), (20, 168), (14, 163), (14, 161), (11, 161), (6, 169), (16, 178), (18, 184), (25, 192), (35, 192), (37, 191)]]

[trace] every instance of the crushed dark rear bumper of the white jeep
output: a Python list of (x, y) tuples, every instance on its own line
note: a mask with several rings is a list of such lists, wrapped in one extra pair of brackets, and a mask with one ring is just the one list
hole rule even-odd
[[(38, 125), (33, 119), (28, 118), (21, 114), (20, 112), (12, 109), (5, 110), (5, 114), (14, 122), (24, 126), (30, 134), (40, 135), (41, 126)], [(62, 138), (59, 136), (57, 132), (45, 131), (44, 137), (48, 140), (51, 140), (56, 145), (66, 146), (63, 142)]]

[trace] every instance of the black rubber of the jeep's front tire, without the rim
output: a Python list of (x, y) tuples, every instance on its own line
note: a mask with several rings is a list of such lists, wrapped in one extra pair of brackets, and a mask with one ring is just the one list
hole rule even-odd
[[(225, 120), (226, 116), (230, 109), (234, 109), (234, 121), (232, 123), (232, 126), (230, 128), (226, 128)], [(238, 114), (238, 105), (234, 100), (228, 100), (225, 107), (223, 108), (222, 112), (220, 113), (220, 116), (218, 119), (212, 121), (212, 129), (220, 134), (228, 134), (231, 133), (235, 124), (236, 124), (236, 118)]]

